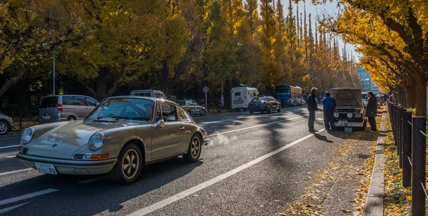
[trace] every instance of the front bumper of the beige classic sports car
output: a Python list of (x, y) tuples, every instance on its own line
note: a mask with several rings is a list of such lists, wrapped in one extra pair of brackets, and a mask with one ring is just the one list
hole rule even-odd
[(16, 158), (29, 168), (36, 169), (35, 162), (50, 163), (55, 166), (56, 172), (66, 175), (98, 175), (110, 172), (116, 165), (117, 158), (108, 160), (64, 160), (56, 158), (43, 158), (34, 155), (18, 153)]

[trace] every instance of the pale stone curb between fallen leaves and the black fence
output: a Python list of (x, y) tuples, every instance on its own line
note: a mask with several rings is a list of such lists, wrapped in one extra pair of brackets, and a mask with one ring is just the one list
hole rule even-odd
[(380, 136), (377, 138), (372, 178), (370, 180), (369, 191), (367, 192), (365, 209), (362, 213), (365, 216), (384, 215), (384, 135), (382, 132), (387, 131), (385, 126), (386, 117), (387, 113), (384, 111), (379, 130)]

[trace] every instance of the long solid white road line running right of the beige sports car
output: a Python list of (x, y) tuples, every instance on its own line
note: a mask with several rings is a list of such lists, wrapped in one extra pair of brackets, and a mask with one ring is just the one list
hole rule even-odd
[[(321, 133), (322, 131), (324, 131), (325, 129), (320, 130), (318, 133)], [(199, 185), (196, 185), (195, 187), (191, 187), (188, 190), (185, 190), (183, 192), (180, 192), (176, 195), (173, 195), (171, 197), (168, 197), (164, 200), (161, 200), (159, 202), (154, 203), (153, 205), (149, 205), (148, 207), (143, 207), (140, 210), (137, 210), (135, 212), (132, 212), (131, 214), (129, 214), (128, 216), (138, 216), (138, 215), (148, 215), (151, 212), (154, 212), (156, 210), (159, 210), (167, 205), (170, 205), (173, 202), (176, 202), (178, 200), (183, 199), (184, 197), (187, 197), (188, 195), (192, 195), (195, 192), (198, 192), (200, 190), (203, 190), (205, 187), (208, 187), (210, 185), (213, 185), (217, 182), (220, 182), (221, 180), (224, 180), (225, 178), (229, 178), (232, 175), (235, 175), (236, 173), (239, 173), (242, 170), (245, 170), (247, 168), (250, 168), (251, 166), (260, 163), (261, 161), (272, 157), (273, 155), (276, 155), (277, 153), (282, 152), (283, 150), (286, 150), (287, 148), (292, 147), (293, 145), (296, 145), (297, 143), (302, 142), (303, 140), (306, 140), (307, 138), (311, 138), (313, 137), (315, 134), (310, 134), (305, 136), (304, 138), (300, 138), (298, 140), (295, 140), (292, 143), (289, 143), (285, 146), (283, 146), (282, 148), (278, 148), (277, 150), (272, 151), (271, 153), (267, 153), (266, 155), (261, 156), (260, 158), (256, 158), (255, 160), (251, 160), (248, 163), (245, 163), (244, 165), (240, 165), (238, 168), (235, 168), (233, 170), (228, 171), (227, 173), (223, 173), (222, 175), (218, 175), (215, 178), (212, 178), (206, 182), (203, 182)], [(121, 205), (123, 205), (123, 203), (121, 203)]]

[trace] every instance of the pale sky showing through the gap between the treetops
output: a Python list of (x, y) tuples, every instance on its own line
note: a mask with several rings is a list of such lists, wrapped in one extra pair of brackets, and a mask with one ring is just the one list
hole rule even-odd
[[(281, 2), (282, 2), (282, 5), (284, 6), (284, 16), (287, 16), (288, 4), (290, 4), (290, 0), (281, 0)], [(300, 16), (300, 13), (303, 14), (303, 12), (304, 12), (303, 9), (304, 9), (305, 5), (306, 5), (307, 16), (309, 16), (309, 14), (312, 14), (312, 29), (315, 29), (315, 23), (317, 22), (317, 20), (316, 20), (317, 16), (322, 17), (323, 15), (326, 15), (326, 14), (329, 14), (332, 16), (337, 16), (337, 13), (339, 11), (339, 9), (337, 9), (337, 3), (313, 5), (312, 0), (307, 0), (307, 2), (300, 1), (298, 5), (299, 5), (299, 16)], [(292, 6), (293, 6), (293, 10), (294, 10), (295, 15), (296, 15), (297, 6), (294, 3), (294, 1), (293, 1)], [(340, 38), (338, 38), (338, 39), (339, 39), (339, 46), (340, 46), (340, 50), (341, 50), (340, 53), (342, 54), (342, 48), (344, 46), (346, 46), (348, 53), (352, 52), (352, 55), (355, 56), (356, 60), (358, 61), (360, 54), (355, 51), (355, 47), (349, 43), (345, 45), (345, 43), (343, 43), (343, 41)]]

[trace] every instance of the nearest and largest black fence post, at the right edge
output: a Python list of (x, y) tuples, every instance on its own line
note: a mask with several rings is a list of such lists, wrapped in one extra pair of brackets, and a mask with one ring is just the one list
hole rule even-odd
[(412, 216), (424, 216), (427, 138), (420, 130), (426, 131), (427, 117), (413, 117), (412, 124)]

